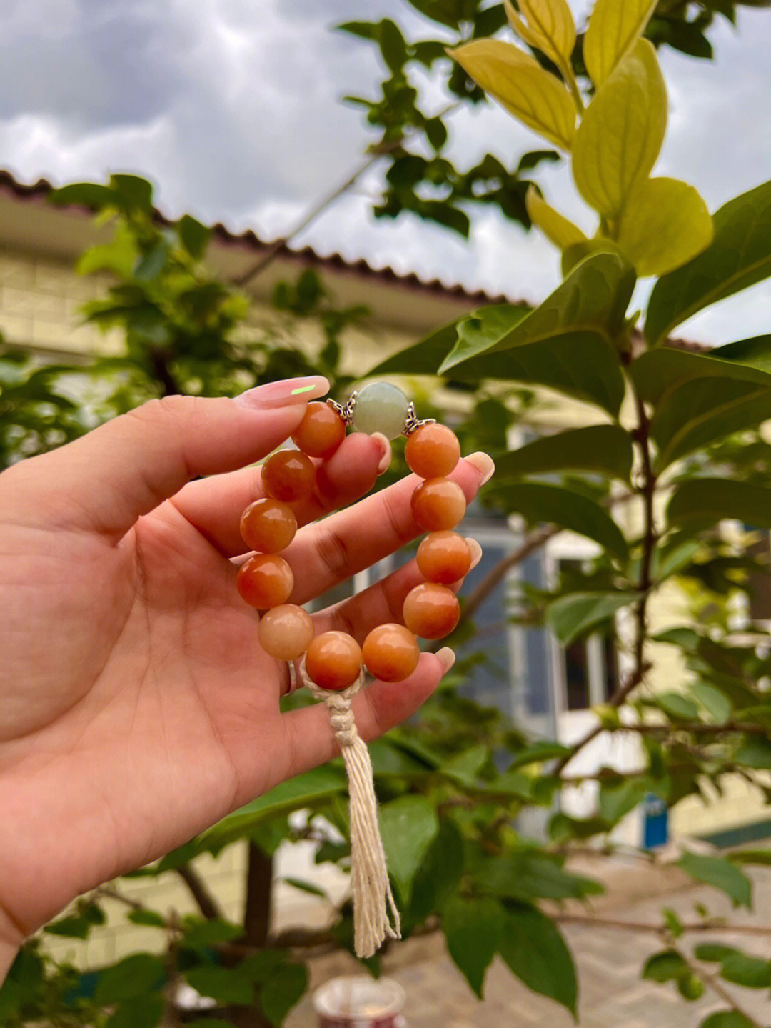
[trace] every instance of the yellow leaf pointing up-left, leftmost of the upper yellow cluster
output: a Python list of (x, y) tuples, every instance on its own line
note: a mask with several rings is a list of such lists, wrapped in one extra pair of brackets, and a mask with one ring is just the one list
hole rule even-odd
[(474, 39), (450, 56), (471, 78), (550, 143), (570, 150), (576, 108), (565, 85), (535, 58), (499, 39)]

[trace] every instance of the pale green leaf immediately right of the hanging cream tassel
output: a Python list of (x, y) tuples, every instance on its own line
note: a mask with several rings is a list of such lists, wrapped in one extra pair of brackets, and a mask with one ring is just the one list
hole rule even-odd
[(436, 808), (424, 796), (402, 796), (380, 808), (380, 834), (388, 871), (404, 903), (428, 847), (439, 831)]

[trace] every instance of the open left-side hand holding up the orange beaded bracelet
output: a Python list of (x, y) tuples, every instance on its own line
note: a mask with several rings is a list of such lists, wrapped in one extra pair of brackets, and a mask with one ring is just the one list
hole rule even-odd
[[(298, 383), (315, 388), (291, 395)], [(153, 401), (0, 477), (0, 943), (9, 959), (81, 892), (335, 755), (323, 705), (279, 713), (287, 668), (258, 645), (234, 561), (244, 551), (240, 514), (263, 494), (259, 470), (244, 466), (283, 442), (327, 388), (293, 379), (239, 401)], [(368, 492), (389, 450), (384, 437), (354, 433), (327, 462), (334, 494), (303, 505), (306, 527), (284, 553), (290, 601), (421, 533), (414, 476), (312, 523)], [(452, 477), (471, 500), (490, 471), (474, 454)], [(400, 620), (418, 581), (413, 561), (316, 614), (316, 631), (343, 628), (361, 641)], [(412, 714), (451, 660), (450, 651), (423, 654), (407, 682), (360, 693), (362, 737)], [(3, 970), (0, 959), (0, 980)]]

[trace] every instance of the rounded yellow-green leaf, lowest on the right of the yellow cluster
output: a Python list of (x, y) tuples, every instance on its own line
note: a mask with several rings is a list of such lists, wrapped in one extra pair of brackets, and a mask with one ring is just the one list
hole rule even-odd
[(712, 219), (693, 186), (646, 179), (621, 214), (616, 242), (639, 276), (665, 274), (712, 242)]

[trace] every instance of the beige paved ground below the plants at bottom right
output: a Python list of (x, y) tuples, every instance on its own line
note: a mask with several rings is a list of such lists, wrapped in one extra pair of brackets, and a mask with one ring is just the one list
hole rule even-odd
[[(575, 870), (591, 874), (589, 866)], [(771, 925), (771, 869), (753, 871), (754, 910), (733, 910), (728, 897), (697, 886), (677, 868), (649, 869), (640, 860), (614, 860), (605, 874), (608, 894), (591, 906), (605, 920), (660, 923), (662, 908), (671, 908), (686, 922), (699, 920), (697, 904), (714, 917), (740, 925)], [(582, 906), (563, 908), (585, 914)], [(701, 999), (687, 1002), (671, 983), (659, 985), (640, 977), (645, 961), (664, 949), (655, 934), (617, 927), (564, 923), (563, 931), (576, 961), (579, 982), (580, 1028), (697, 1028), (707, 1014), (727, 1003), (709, 987)], [(688, 952), (698, 942), (720, 941), (764, 959), (771, 958), (771, 934), (729, 931), (690, 933), (679, 941)], [(488, 970), (483, 1000), (478, 1000), (448, 956), (439, 932), (392, 947), (383, 960), (384, 974), (395, 979), (408, 996), (407, 1028), (572, 1028), (573, 1018), (564, 1007), (524, 986), (501, 960)], [(702, 964), (714, 970), (715, 964)], [(360, 972), (345, 954), (335, 953), (311, 961), (312, 988), (337, 975)], [(755, 1021), (771, 1026), (768, 990), (744, 989), (722, 980), (718, 986), (735, 997), (740, 1009)], [(316, 1028), (310, 996), (295, 1008), (285, 1028)]]

